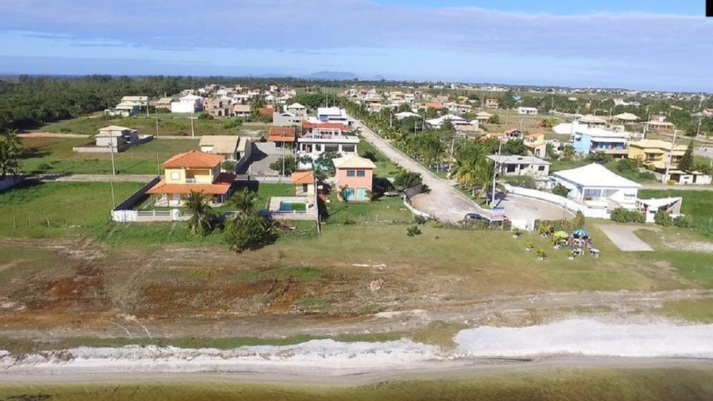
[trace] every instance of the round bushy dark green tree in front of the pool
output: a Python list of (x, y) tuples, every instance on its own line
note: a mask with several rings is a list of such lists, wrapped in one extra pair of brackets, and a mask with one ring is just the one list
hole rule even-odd
[(272, 224), (250, 210), (228, 221), (223, 231), (223, 242), (238, 253), (246, 249), (260, 248), (275, 240)]

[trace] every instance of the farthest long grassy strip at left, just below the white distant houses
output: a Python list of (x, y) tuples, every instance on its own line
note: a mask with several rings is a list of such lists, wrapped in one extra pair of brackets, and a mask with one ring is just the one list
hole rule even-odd
[[(264, 123), (244, 123), (241, 127), (232, 128), (229, 123), (231, 120), (232, 118), (215, 118), (213, 120), (197, 118), (193, 121), (195, 135), (240, 135), (241, 133), (245, 134), (245, 131), (267, 131), (268, 128)], [(123, 118), (79, 117), (49, 123), (35, 131), (95, 135), (99, 128), (105, 126), (125, 126), (135, 129), (140, 134), (156, 135), (156, 121), (153, 115)], [(158, 135), (189, 136), (190, 114), (159, 114)]]

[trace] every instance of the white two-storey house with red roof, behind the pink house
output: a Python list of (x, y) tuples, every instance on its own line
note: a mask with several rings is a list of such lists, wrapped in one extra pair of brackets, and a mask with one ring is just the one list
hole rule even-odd
[(349, 135), (349, 127), (341, 123), (313, 124), (302, 122), (302, 136), (297, 138), (297, 153), (313, 160), (324, 152), (338, 152), (342, 156), (356, 155), (359, 137)]

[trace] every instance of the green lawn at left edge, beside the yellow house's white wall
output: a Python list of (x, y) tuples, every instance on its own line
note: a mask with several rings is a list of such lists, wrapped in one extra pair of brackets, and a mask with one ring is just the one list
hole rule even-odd
[[(114, 183), (116, 202), (141, 183)], [(111, 217), (109, 183), (22, 183), (0, 193), (0, 235), (56, 237), (86, 233)], [(49, 227), (48, 227), (49, 220)]]

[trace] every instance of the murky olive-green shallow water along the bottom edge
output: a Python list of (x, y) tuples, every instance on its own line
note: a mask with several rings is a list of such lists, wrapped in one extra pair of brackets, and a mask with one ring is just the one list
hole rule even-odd
[[(257, 378), (252, 379), (257, 380)], [(700, 362), (670, 367), (513, 366), (430, 375), (401, 374), (357, 384), (312, 380), (260, 382), (209, 377), (185, 379), (26, 382), (0, 384), (3, 400), (48, 401), (707, 401), (713, 397), (713, 370)], [(349, 382), (349, 381), (348, 381)], [(361, 384), (359, 384), (361, 383)]]

